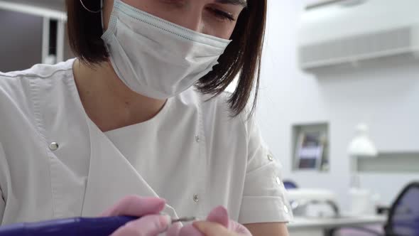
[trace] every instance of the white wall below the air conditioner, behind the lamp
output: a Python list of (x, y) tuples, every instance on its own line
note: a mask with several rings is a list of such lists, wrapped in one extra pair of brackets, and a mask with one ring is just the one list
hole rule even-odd
[[(302, 187), (337, 191), (347, 208), (346, 150), (359, 122), (369, 124), (379, 151), (419, 153), (419, 63), (383, 60), (318, 77), (305, 74), (295, 53), (302, 9), (303, 1), (270, 0), (257, 116), (266, 142), (283, 163), (284, 177)], [(323, 121), (330, 124), (330, 172), (292, 172), (292, 124)], [(389, 204), (413, 179), (419, 180), (419, 173), (363, 174), (361, 185)]]

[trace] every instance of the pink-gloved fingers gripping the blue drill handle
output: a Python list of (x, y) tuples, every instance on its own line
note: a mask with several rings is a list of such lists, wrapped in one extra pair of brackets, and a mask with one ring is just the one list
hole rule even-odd
[(161, 198), (141, 198), (128, 196), (112, 208), (101, 214), (102, 217), (129, 215), (141, 217), (120, 227), (111, 236), (156, 236), (165, 232), (170, 225), (170, 218), (159, 213), (165, 208)]

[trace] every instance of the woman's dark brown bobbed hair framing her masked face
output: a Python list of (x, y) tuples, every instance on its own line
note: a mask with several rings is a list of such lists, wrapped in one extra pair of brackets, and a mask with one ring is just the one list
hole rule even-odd
[[(255, 90), (251, 113), (256, 108), (266, 27), (266, 1), (248, 0), (247, 8), (237, 19), (231, 38), (232, 43), (219, 58), (219, 64), (195, 85), (200, 92), (215, 97), (224, 92), (240, 73), (236, 90), (228, 100), (234, 116), (246, 108), (253, 89)], [(83, 1), (83, 3), (92, 11), (100, 9), (100, 0)], [(100, 14), (86, 11), (78, 0), (66, 0), (66, 6), (67, 30), (75, 55), (83, 62), (92, 65), (107, 60), (109, 55), (101, 38), (103, 32)]]

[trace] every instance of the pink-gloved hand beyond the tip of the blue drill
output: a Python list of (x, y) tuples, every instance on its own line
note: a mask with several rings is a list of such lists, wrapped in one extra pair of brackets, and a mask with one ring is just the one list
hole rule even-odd
[(238, 222), (229, 220), (226, 208), (219, 206), (209, 213), (206, 221), (194, 222), (180, 228), (172, 225), (168, 236), (251, 236), (251, 232)]

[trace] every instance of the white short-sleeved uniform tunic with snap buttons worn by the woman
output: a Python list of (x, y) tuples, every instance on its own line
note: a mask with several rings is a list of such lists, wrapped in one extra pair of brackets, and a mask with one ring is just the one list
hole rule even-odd
[(241, 223), (288, 222), (281, 166), (253, 119), (194, 89), (156, 117), (103, 133), (68, 60), (0, 73), (0, 222), (97, 216), (126, 195), (159, 196), (172, 216), (224, 205)]

